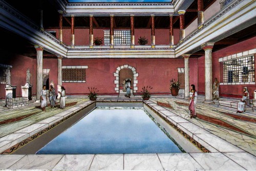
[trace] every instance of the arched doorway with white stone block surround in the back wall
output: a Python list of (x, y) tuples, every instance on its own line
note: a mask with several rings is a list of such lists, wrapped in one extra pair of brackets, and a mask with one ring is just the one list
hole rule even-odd
[[(127, 69), (127, 70), (123, 70), (123, 69)], [(123, 71), (121, 71), (121, 70), (123, 70)], [(121, 77), (122, 78), (120, 78), (120, 72), (121, 72)], [(137, 77), (139, 77), (139, 73), (136, 71), (135, 67), (125, 64), (125, 65), (122, 65), (122, 66), (118, 66), (116, 68), (116, 71), (114, 72), (114, 77), (115, 77), (114, 84), (116, 85), (115, 86), (115, 91), (117, 93), (120, 94), (120, 89), (122, 89), (122, 85), (120, 83), (123, 82), (123, 79), (125, 79), (126, 76), (130, 78), (131, 74), (132, 74), (132, 80), (131, 80), (132, 81), (132, 92), (134, 93), (134, 92), (138, 91)]]

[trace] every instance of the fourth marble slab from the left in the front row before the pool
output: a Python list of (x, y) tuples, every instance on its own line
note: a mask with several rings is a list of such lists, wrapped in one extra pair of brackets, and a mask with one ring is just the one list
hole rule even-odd
[(90, 170), (123, 170), (123, 154), (96, 154)]

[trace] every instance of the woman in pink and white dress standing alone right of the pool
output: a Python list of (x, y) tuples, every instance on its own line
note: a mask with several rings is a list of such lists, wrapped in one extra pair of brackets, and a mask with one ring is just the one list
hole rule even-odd
[(188, 113), (190, 115), (190, 118), (197, 117), (197, 91), (194, 84), (191, 84), (190, 91), (189, 91), (189, 107), (188, 107)]

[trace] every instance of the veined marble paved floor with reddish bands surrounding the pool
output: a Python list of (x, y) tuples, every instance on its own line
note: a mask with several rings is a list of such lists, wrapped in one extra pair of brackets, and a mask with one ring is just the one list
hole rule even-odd
[[(207, 105), (203, 102), (203, 96), (199, 96), (197, 113), (214, 119), (190, 119), (188, 116), (188, 100), (173, 98), (171, 96), (153, 96), (149, 103), (155, 108), (164, 108), (172, 112), (172, 118), (182, 117), (187, 120), (182, 127), (188, 128), (191, 135), (197, 133), (198, 139), (209, 140), (213, 136), (220, 137), (222, 145), (219, 151), (212, 153), (179, 153), (179, 154), (85, 154), (85, 155), (0, 155), (0, 169), (8, 170), (255, 170), (256, 169), (256, 113), (237, 114), (236, 110), (226, 107)], [(117, 96), (100, 96), (100, 101), (127, 101)], [(130, 101), (141, 101), (140, 97), (132, 97)], [(86, 98), (68, 98), (67, 103), (73, 106), (65, 110), (47, 107), (42, 112), (31, 103), (30, 106), (15, 110), (6, 110), (0, 107), (0, 144), (2, 138), (11, 134), (17, 134), (22, 129), (29, 129), (29, 126), (37, 124), (38, 129), (42, 120), (50, 119), (57, 115), (65, 116), (69, 111), (78, 109), (80, 106), (90, 103)], [(3, 102), (0, 102), (2, 106)], [(75, 105), (74, 105), (75, 104)], [(163, 106), (165, 104), (165, 106)], [(2, 109), (2, 110), (1, 110)], [(232, 114), (232, 115), (227, 115)], [(239, 116), (234, 117), (233, 115)], [(241, 119), (243, 116), (248, 119)], [(13, 119), (14, 118), (14, 119)], [(9, 120), (8, 120), (9, 119)], [(15, 120), (16, 119), (16, 120)], [(20, 120), (19, 120), (20, 119)], [(214, 120), (214, 121), (212, 121)], [(218, 125), (216, 120), (221, 120), (234, 127), (225, 127), (225, 124)], [(8, 121), (7, 124), (3, 121)], [(193, 130), (191, 125), (200, 127)], [(228, 126), (229, 126), (228, 125)], [(238, 128), (234, 130), (233, 128)], [(209, 132), (210, 134), (204, 133)], [(207, 137), (211, 135), (211, 137)], [(22, 139), (22, 135), (20, 139)], [(197, 138), (197, 137), (195, 137)], [(223, 143), (223, 142), (227, 143)], [(229, 148), (231, 143), (239, 151)], [(0, 145), (1, 146), (1, 145)], [(228, 152), (225, 152), (229, 149)]]

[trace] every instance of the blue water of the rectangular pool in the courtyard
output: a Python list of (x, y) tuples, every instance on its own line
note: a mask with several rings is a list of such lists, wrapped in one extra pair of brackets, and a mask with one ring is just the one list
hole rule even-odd
[(181, 153), (144, 108), (96, 108), (36, 154)]

